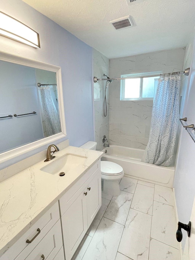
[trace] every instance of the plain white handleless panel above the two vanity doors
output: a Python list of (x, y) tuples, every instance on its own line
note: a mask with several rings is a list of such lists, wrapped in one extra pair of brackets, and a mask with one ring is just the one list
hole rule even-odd
[(60, 204), (60, 215), (62, 216), (66, 210), (70, 207), (70, 205), (73, 204), (73, 202), (78, 198), (80, 193), (85, 189), (88, 183), (94, 178), (94, 176), (101, 170), (100, 166), (100, 160), (96, 162), (88, 171), (85, 173), (84, 176), (81, 177), (80, 180), (77, 181), (69, 189), (69, 191), (66, 192), (62, 196), (62, 198), (59, 199), (59, 204)]

